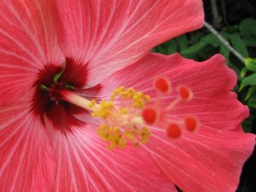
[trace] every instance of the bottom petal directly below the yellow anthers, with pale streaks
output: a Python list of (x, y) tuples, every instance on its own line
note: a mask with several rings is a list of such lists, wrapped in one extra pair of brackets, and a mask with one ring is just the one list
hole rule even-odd
[(112, 151), (97, 136), (96, 126), (73, 128), (73, 133), (67, 135), (49, 128), (58, 163), (55, 192), (177, 192), (161, 177), (145, 151)]

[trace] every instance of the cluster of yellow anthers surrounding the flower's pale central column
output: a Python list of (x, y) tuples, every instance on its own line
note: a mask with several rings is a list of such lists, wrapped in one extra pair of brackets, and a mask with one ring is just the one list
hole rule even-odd
[(93, 116), (103, 119), (97, 133), (108, 142), (108, 148), (125, 148), (129, 141), (134, 146), (147, 143), (150, 131), (141, 126), (141, 109), (149, 102), (149, 96), (143, 92), (124, 86), (113, 90), (110, 102), (102, 101)]

